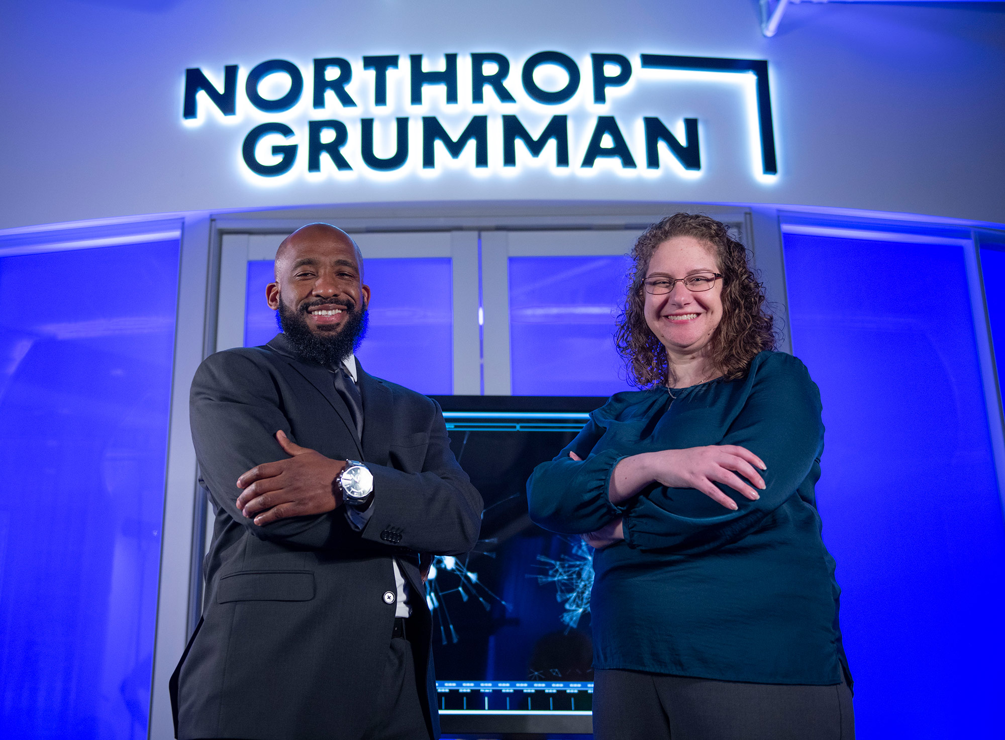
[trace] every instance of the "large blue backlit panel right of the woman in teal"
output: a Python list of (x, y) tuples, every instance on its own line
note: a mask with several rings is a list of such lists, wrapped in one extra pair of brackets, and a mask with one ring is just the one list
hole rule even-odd
[(863, 738), (1001, 732), (1005, 635), (987, 625), (1005, 609), (1005, 528), (963, 249), (785, 236)]

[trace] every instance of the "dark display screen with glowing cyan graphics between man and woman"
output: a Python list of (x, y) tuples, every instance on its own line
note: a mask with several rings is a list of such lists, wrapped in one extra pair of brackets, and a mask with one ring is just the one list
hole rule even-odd
[(502, 731), (492, 717), (509, 715), (524, 717), (527, 732), (590, 732), (592, 552), (531, 521), (527, 479), (606, 399), (437, 400), (453, 452), (484, 500), (475, 549), (437, 557), (427, 581), (443, 730)]

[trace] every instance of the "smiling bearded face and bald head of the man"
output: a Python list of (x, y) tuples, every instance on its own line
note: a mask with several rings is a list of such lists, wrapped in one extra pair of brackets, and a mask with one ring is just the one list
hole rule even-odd
[(362, 272), (355, 243), (335, 226), (313, 223), (280, 244), (265, 299), (300, 355), (333, 365), (353, 352), (370, 303)]

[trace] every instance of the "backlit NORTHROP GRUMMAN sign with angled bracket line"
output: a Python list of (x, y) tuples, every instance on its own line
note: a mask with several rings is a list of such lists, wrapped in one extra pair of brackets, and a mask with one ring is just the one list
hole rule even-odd
[(577, 62), (560, 51), (519, 64), (495, 52), (446, 53), (432, 64), (422, 54), (304, 66), (269, 59), (246, 72), (187, 69), (182, 117), (190, 127), (250, 121), (235, 148), (239, 167), (262, 184), (542, 166), (694, 178), (706, 166), (708, 122), (689, 115), (694, 104), (682, 90), (727, 81), (738, 84), (743, 114), (717, 130), (746, 138), (750, 157), (723, 166), (771, 182), (775, 134), (768, 63), (759, 59), (592, 53)]

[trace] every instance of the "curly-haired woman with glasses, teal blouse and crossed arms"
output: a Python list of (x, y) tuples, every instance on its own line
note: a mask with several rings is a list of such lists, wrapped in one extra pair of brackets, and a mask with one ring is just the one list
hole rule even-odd
[(642, 390), (528, 482), (535, 522), (596, 548), (594, 735), (848, 740), (817, 386), (724, 224), (677, 213), (632, 256), (617, 340)]

